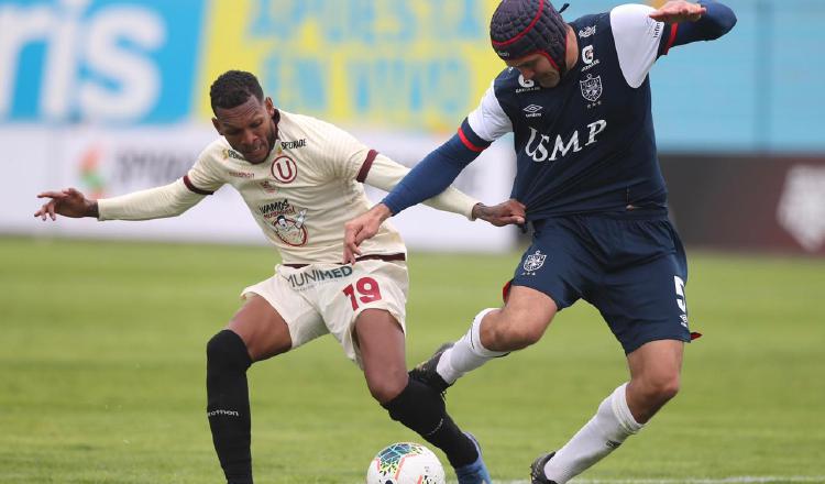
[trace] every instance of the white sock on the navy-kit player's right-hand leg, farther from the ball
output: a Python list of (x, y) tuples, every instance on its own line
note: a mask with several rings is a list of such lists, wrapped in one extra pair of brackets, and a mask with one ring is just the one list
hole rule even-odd
[(602, 402), (598, 411), (544, 465), (544, 474), (564, 484), (601, 461), (628, 437), (641, 430), (627, 406), (627, 383)]

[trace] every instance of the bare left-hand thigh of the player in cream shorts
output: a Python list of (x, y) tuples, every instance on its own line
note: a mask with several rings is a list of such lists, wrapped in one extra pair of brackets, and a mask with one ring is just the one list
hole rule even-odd
[(286, 321), (266, 299), (257, 295), (248, 297), (227, 329), (241, 337), (252, 361), (266, 360), (293, 348)]

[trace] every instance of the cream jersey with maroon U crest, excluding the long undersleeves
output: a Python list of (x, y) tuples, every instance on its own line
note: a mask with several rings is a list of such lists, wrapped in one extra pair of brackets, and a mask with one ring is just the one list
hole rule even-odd
[[(204, 150), (184, 184), (200, 195), (231, 185), (285, 263), (340, 262), (344, 223), (372, 205), (362, 183), (377, 153), (327, 122), (284, 111), (276, 116), (277, 140), (265, 162), (246, 162), (220, 138)], [(387, 222), (361, 250), (406, 252)]]

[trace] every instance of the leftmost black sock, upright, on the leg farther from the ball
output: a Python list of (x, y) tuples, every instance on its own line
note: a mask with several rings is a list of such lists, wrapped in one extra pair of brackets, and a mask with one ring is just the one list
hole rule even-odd
[(246, 344), (223, 330), (207, 344), (207, 417), (228, 484), (252, 484)]

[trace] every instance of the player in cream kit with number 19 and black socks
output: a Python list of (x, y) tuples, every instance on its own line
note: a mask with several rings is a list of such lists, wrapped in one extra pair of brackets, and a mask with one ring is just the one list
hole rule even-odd
[[(384, 223), (355, 264), (340, 264), (344, 222), (370, 208), (362, 184), (389, 190), (407, 168), (329, 123), (275, 109), (250, 73), (224, 73), (210, 98), (221, 138), (186, 176), (100, 200), (74, 188), (45, 191), (38, 197), (50, 200), (35, 217), (157, 219), (183, 213), (226, 184), (241, 194), (282, 264), (243, 289), (245, 304), (207, 344), (207, 416), (227, 482), (253, 482), (246, 370), (332, 333), (394, 420), (444, 451), (461, 484), (490, 483), (475, 439), (447, 415), (438, 393), (408, 378), (408, 276), (398, 232)], [(429, 205), (496, 226), (524, 222), (518, 206), (486, 207), (452, 187)]]

